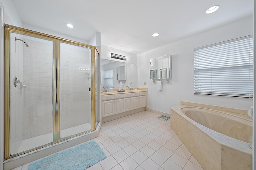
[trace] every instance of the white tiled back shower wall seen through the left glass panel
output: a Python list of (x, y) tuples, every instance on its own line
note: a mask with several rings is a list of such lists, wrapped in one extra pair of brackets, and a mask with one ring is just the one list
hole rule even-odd
[(24, 39), (23, 139), (52, 132), (52, 43)]

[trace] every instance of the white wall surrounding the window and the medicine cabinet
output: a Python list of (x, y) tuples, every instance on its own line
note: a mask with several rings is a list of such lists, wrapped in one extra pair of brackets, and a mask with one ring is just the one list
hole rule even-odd
[[(148, 88), (148, 108), (170, 114), (170, 108), (172, 106), (179, 105), (180, 101), (186, 101), (249, 109), (252, 106), (252, 99), (193, 94), (193, 49), (252, 34), (253, 17), (250, 16), (139, 54), (138, 87)], [(150, 80), (149, 63), (151, 58), (167, 54), (172, 55), (172, 79), (170, 79), (169, 84), (163, 81), (163, 90), (158, 91), (156, 90), (156, 84)], [(146, 82), (146, 86), (144, 86), (144, 82)]]

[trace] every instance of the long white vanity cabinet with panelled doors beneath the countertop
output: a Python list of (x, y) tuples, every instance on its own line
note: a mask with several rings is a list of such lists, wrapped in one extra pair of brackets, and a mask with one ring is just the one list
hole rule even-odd
[(147, 106), (147, 92), (102, 95), (102, 117)]

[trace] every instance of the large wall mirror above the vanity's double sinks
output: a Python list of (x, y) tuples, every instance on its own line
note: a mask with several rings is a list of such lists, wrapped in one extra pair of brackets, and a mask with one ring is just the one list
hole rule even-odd
[[(123, 81), (123, 86), (136, 87), (136, 65), (112, 61), (107, 59), (100, 60), (101, 72), (101, 88), (120, 88)], [(124, 80), (126, 81), (124, 81)]]

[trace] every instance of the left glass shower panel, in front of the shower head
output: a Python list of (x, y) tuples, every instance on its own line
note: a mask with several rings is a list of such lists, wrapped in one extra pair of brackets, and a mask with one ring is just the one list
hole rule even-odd
[(52, 142), (52, 44), (10, 33), (10, 155)]

